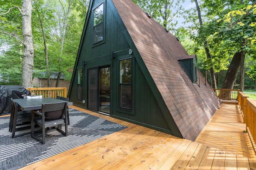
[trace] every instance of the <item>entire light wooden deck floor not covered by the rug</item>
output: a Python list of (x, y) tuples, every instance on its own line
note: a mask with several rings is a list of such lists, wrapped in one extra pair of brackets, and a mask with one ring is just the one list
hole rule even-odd
[(128, 128), (22, 169), (256, 170), (255, 155), (236, 105), (222, 104), (196, 142), (74, 108)]

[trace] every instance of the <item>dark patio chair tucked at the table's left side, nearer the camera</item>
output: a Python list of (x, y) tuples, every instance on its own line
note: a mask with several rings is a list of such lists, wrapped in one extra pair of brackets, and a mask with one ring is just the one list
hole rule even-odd
[(30, 132), (26, 132), (26, 133), (20, 133), (18, 135), (15, 135), (16, 131), (30, 129), (30, 125), (31, 125), (31, 113), (18, 111), (17, 103), (12, 101), (12, 111), (11, 111), (10, 122), (9, 122), (9, 131), (12, 132), (12, 138), (30, 134)]

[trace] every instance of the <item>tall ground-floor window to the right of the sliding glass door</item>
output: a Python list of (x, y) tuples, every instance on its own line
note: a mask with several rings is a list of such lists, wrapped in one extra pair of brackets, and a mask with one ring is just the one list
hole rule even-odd
[(132, 58), (120, 60), (119, 107), (132, 110)]

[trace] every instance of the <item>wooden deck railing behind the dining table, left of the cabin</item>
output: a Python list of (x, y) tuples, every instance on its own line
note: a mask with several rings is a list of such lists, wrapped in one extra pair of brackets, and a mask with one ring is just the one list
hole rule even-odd
[(26, 88), (31, 92), (31, 95), (42, 95), (43, 98), (56, 98), (56, 96), (67, 97), (66, 87), (56, 88)]

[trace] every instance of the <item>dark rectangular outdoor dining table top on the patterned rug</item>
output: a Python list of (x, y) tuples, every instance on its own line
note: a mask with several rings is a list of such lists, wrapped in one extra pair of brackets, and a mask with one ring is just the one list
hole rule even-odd
[[(56, 98), (14, 99), (13, 101), (18, 104), (22, 111), (40, 110), (42, 108), (42, 104), (67, 102), (65, 100), (60, 100)], [(73, 102), (68, 102), (68, 106), (72, 105)]]

